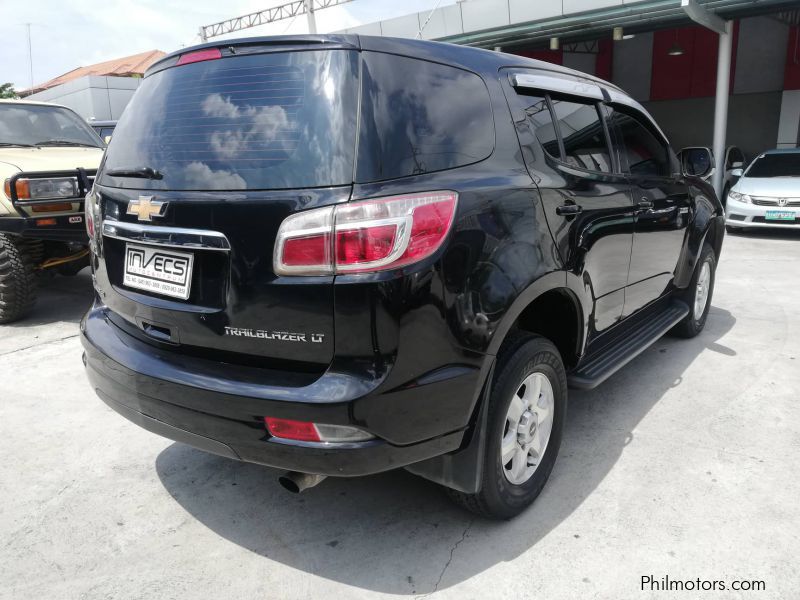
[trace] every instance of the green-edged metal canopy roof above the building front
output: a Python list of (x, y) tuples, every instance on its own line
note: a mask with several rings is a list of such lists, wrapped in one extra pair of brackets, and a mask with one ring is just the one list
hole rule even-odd
[[(697, 0), (697, 3), (726, 20), (778, 13), (797, 7), (797, 0)], [(637, 33), (690, 23), (680, 0), (651, 0), (437, 39), (482, 48), (507, 48), (543, 42), (551, 37), (562, 38), (565, 42), (596, 39), (620, 26), (625, 28), (626, 33)]]

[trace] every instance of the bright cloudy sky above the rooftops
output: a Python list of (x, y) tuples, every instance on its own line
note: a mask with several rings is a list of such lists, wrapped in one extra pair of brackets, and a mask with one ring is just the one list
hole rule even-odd
[[(0, 0), (0, 83), (30, 86), (26, 23), (31, 24), (33, 82), (77, 67), (147, 50), (171, 52), (200, 41), (201, 25), (288, 0)], [(316, 13), (326, 33), (431, 10), (455, 0), (353, 0)], [(305, 16), (214, 39), (307, 33)]]

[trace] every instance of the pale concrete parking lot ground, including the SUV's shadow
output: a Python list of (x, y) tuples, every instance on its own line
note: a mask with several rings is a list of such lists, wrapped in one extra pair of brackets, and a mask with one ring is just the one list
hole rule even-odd
[(727, 236), (702, 335), (572, 391), (549, 483), (501, 523), (404, 471), (291, 495), (138, 428), (83, 373), (90, 297), (56, 278), (0, 326), (0, 597), (797, 597), (800, 232)]

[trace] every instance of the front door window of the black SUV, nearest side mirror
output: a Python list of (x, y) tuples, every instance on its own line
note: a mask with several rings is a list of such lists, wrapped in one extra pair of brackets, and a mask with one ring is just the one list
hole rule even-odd
[(612, 122), (621, 137), (623, 165), (633, 175), (670, 175), (669, 148), (632, 115), (613, 111)]

